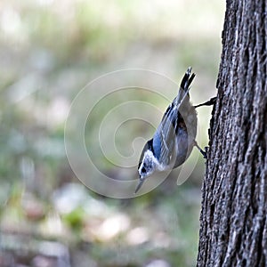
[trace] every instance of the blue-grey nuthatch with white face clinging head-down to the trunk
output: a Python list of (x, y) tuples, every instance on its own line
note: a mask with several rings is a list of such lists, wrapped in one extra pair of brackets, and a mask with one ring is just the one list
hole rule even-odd
[(139, 183), (135, 194), (143, 182), (156, 172), (164, 172), (181, 166), (190, 156), (193, 147), (197, 147), (206, 158), (206, 151), (196, 142), (197, 111), (201, 106), (213, 105), (216, 97), (197, 106), (190, 103), (190, 85), (195, 78), (189, 67), (182, 77), (177, 96), (168, 108), (153, 137), (146, 142), (139, 160)]

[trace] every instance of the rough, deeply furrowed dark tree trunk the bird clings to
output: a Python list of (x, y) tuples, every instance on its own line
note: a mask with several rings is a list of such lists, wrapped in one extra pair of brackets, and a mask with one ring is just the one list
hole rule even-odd
[(266, 0), (228, 0), (198, 266), (267, 266)]

